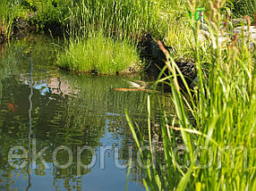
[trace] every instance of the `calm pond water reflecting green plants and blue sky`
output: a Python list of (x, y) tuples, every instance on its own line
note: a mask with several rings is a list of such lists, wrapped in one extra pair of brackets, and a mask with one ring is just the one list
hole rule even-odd
[(55, 55), (40, 36), (1, 47), (0, 190), (124, 190), (129, 158), (128, 190), (145, 190), (124, 109), (147, 128), (149, 93), (114, 90), (140, 77), (59, 71)]

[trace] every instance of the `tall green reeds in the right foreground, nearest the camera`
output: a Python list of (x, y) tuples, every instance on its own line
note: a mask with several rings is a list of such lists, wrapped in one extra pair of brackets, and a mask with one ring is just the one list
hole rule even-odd
[[(194, 10), (194, 4), (191, 6)], [(214, 26), (221, 24), (222, 17), (218, 9), (212, 11), (214, 24), (206, 51), (198, 42), (198, 25), (191, 21), (198, 86), (188, 87), (171, 57), (166, 62), (170, 76), (156, 82), (170, 86), (176, 112), (176, 117), (172, 117), (162, 109), (160, 148), (154, 147), (151, 137), (150, 104), (149, 140), (142, 137), (141, 127), (135, 127), (127, 113), (143, 164), (148, 167), (143, 180), (147, 190), (254, 190), (256, 187), (255, 50), (243, 35), (218, 45), (219, 28)], [(216, 48), (213, 41), (218, 45)], [(187, 94), (182, 93), (178, 76), (183, 79)], [(142, 151), (142, 146), (148, 146), (149, 150)], [(150, 165), (153, 161), (157, 162)]]

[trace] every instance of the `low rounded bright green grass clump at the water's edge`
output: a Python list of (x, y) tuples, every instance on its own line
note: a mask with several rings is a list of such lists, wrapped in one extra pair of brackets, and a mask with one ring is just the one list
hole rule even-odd
[(90, 33), (87, 39), (71, 38), (64, 53), (58, 54), (57, 65), (70, 71), (115, 74), (139, 67), (140, 59), (135, 46), (127, 40), (104, 37), (98, 32)]

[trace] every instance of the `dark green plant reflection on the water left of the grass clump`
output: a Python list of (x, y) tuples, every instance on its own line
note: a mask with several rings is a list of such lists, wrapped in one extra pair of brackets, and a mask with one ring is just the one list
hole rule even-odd
[(3, 60), (8, 62), (4, 66), (5, 72), (10, 75), (11, 73), (26, 73), (30, 71), (30, 56), (33, 62), (35, 80), (42, 77), (41, 71), (50, 73), (51, 70), (58, 70), (55, 66), (52, 66), (57, 49), (50, 42), (52, 40), (45, 35), (32, 34), (28, 34), (27, 37), (22, 39), (11, 41), (9, 46), (4, 46), (3, 49), (4, 54), (6, 54), (3, 55)]

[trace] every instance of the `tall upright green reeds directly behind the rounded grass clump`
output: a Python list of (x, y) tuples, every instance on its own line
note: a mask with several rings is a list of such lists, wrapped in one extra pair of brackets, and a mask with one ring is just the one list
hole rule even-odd
[(71, 7), (69, 20), (71, 33), (100, 29), (108, 35), (137, 40), (147, 32), (164, 36), (172, 22), (169, 12), (173, 12), (169, 1), (81, 0)]

